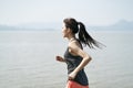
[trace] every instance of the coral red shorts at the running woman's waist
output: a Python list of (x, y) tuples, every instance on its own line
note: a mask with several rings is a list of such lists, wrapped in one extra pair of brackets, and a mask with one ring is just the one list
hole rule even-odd
[(66, 88), (89, 88), (89, 86), (82, 86), (75, 81), (69, 80), (66, 84)]

